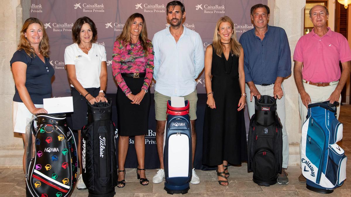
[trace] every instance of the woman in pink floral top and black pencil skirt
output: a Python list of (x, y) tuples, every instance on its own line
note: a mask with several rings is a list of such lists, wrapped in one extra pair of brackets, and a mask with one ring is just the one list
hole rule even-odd
[[(129, 136), (135, 136), (137, 152), (137, 178), (141, 185), (149, 181), (145, 176), (145, 134), (148, 132), (150, 111), (150, 83), (153, 75), (153, 47), (147, 39), (145, 19), (134, 13), (127, 19), (121, 35), (114, 42), (112, 73), (117, 81), (117, 128), (118, 128), (118, 183), (122, 188), (124, 164), (128, 152)], [(120, 173), (122, 172), (122, 173)]]

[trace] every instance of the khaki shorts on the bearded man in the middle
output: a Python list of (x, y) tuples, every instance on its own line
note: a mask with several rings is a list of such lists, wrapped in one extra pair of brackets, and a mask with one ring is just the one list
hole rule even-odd
[[(190, 120), (196, 120), (196, 104), (197, 104), (197, 90), (195, 89), (192, 93), (182, 96), (185, 100), (189, 100), (190, 102)], [(155, 91), (154, 94), (155, 100), (155, 118), (159, 121), (166, 120), (166, 110), (167, 110), (167, 101), (171, 100), (170, 96), (165, 96), (161, 93)]]

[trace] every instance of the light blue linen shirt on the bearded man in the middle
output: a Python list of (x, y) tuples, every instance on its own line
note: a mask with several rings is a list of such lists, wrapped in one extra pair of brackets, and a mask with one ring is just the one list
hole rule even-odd
[(204, 47), (201, 37), (184, 25), (178, 42), (167, 27), (155, 33), (155, 90), (166, 96), (186, 96), (196, 88), (195, 79), (204, 69)]

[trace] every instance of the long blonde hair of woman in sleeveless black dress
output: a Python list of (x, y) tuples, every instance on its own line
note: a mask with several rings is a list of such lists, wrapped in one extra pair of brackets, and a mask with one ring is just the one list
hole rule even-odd
[(216, 51), (216, 54), (221, 57), (221, 54), (223, 53), (224, 44), (220, 42), (220, 36), (218, 35), (219, 25), (222, 22), (229, 22), (233, 29), (232, 38), (229, 42), (230, 52), (236, 56), (240, 56), (241, 44), (237, 41), (237, 34), (235, 32), (234, 23), (228, 16), (221, 17), (216, 23), (216, 29), (214, 29), (212, 45)]

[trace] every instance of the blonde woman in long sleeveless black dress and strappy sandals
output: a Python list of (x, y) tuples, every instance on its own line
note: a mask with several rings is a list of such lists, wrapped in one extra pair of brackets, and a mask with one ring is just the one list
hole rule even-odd
[(244, 51), (227, 16), (217, 21), (213, 43), (206, 49), (205, 80), (203, 164), (217, 165), (218, 182), (227, 186), (228, 163), (247, 160)]

